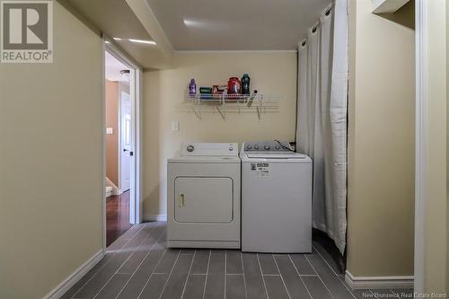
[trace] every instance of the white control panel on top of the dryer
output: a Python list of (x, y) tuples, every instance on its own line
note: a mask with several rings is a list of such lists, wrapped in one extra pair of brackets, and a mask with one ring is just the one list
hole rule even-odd
[(238, 155), (237, 143), (183, 143), (180, 145), (180, 155)]

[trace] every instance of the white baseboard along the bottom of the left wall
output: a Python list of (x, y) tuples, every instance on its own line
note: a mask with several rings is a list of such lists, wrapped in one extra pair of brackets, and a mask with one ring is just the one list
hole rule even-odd
[(81, 277), (89, 272), (104, 256), (104, 251), (100, 250), (95, 253), (91, 259), (88, 259), (80, 268), (77, 268), (69, 277), (66, 277), (63, 282), (61, 282), (57, 287), (51, 290), (43, 299), (59, 299), (62, 295), (74, 286)]

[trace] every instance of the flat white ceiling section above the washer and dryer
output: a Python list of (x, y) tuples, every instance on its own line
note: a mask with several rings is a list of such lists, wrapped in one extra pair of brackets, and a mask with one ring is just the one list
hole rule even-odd
[(295, 49), (331, 0), (146, 0), (175, 50)]

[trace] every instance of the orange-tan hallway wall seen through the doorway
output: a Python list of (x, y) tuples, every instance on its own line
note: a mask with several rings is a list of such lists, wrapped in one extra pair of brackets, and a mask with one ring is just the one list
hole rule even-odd
[(106, 128), (106, 177), (119, 186), (119, 83), (106, 80), (104, 86)]

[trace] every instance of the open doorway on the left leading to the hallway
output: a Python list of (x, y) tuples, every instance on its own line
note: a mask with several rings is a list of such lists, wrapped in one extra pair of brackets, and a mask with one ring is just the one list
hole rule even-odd
[(139, 145), (140, 68), (110, 40), (104, 48), (104, 248), (141, 222)]

